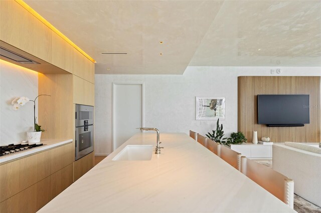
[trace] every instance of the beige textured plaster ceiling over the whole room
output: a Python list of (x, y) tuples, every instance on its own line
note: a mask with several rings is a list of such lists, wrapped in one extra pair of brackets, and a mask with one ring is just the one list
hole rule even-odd
[(96, 73), (321, 66), (320, 0), (25, 1), (97, 61)]

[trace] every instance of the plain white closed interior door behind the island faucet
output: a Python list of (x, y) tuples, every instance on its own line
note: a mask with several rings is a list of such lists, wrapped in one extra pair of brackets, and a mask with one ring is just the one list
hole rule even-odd
[(112, 128), (113, 150), (143, 125), (143, 84), (113, 83)]

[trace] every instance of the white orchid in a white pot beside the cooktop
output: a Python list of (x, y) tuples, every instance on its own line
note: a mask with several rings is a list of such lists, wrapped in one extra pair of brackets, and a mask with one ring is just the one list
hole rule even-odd
[(29, 101), (34, 102), (34, 131), (27, 132), (28, 141), (30, 143), (39, 143), (41, 139), (41, 132), (45, 131), (44, 129), (41, 128), (41, 125), (37, 123), (37, 119), (36, 119), (36, 100), (39, 96), (42, 96), (42, 95), (51, 96), (49, 94), (40, 94), (34, 100), (30, 100), (28, 97), (25, 97), (25, 96), (15, 97), (11, 102), (13, 104), (14, 110), (18, 110), (20, 106), (25, 105)]

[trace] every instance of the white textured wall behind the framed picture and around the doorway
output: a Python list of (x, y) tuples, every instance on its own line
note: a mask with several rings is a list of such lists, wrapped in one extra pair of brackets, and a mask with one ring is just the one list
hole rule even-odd
[[(189, 66), (183, 75), (95, 75), (95, 153), (112, 151), (112, 82), (144, 83), (144, 123), (162, 132), (201, 134), (216, 127), (214, 121), (195, 120), (195, 96), (225, 96), (226, 136), (237, 131), (237, 76), (277, 75), (277, 67)], [(280, 67), (278, 75), (317, 75), (320, 67)]]

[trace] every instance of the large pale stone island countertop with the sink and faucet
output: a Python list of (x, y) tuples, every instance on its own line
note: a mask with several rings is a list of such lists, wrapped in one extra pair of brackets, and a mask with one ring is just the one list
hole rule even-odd
[(295, 212), (185, 133), (161, 133), (162, 153), (112, 161), (137, 133), (39, 212)]

